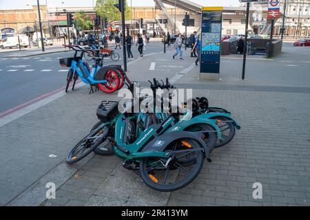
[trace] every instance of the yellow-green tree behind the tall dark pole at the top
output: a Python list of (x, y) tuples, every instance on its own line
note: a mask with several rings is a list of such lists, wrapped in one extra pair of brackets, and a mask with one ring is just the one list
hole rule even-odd
[[(121, 12), (114, 6), (118, 4), (118, 0), (97, 0), (96, 13), (107, 21), (121, 21)], [(130, 20), (130, 8), (125, 1), (125, 20)]]

